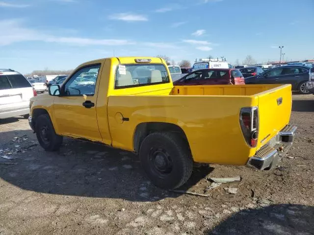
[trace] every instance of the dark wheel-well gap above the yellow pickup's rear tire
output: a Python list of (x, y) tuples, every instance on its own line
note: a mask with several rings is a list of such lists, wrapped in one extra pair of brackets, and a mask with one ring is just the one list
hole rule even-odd
[(168, 122), (142, 122), (136, 126), (133, 135), (133, 149), (135, 153), (139, 152), (139, 148), (145, 137), (154, 132), (177, 133), (184, 141), (186, 141), (189, 147), (187, 137), (180, 126)]

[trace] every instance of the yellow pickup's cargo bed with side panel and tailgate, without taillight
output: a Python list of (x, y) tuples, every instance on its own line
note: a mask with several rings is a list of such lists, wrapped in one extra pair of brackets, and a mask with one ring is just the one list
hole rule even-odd
[[(112, 145), (132, 151), (131, 133), (138, 124), (173, 123), (188, 137), (194, 161), (203, 163), (246, 164), (288, 124), (291, 112), (291, 85), (180, 86), (133, 92), (136, 95), (108, 97)], [(278, 105), (280, 98), (283, 102)], [(241, 108), (252, 106), (259, 107), (260, 115), (256, 148), (248, 147), (239, 124)], [(119, 123), (117, 113), (128, 121)]]

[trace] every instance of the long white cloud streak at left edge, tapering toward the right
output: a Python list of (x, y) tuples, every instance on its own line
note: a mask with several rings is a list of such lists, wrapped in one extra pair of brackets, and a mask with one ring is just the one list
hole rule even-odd
[(46, 43), (63, 43), (75, 46), (122, 46), (135, 44), (128, 40), (120, 39), (93, 39), (81, 37), (57, 37), (48, 33), (43, 33), (34, 29), (26, 28), (21, 24), (21, 20), (0, 21), (0, 28), (5, 33), (0, 34), (0, 46), (25, 41), (41, 41)]

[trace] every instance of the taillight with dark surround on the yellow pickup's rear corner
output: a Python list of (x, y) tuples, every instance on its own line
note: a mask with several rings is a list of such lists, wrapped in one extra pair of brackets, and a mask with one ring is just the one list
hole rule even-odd
[(258, 107), (242, 108), (240, 111), (240, 126), (245, 141), (250, 147), (256, 147), (259, 138)]

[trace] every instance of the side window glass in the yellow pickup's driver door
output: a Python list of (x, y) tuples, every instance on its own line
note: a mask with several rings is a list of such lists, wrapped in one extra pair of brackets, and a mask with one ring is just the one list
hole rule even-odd
[(64, 92), (66, 95), (94, 95), (99, 65), (92, 65), (78, 70), (65, 84)]

